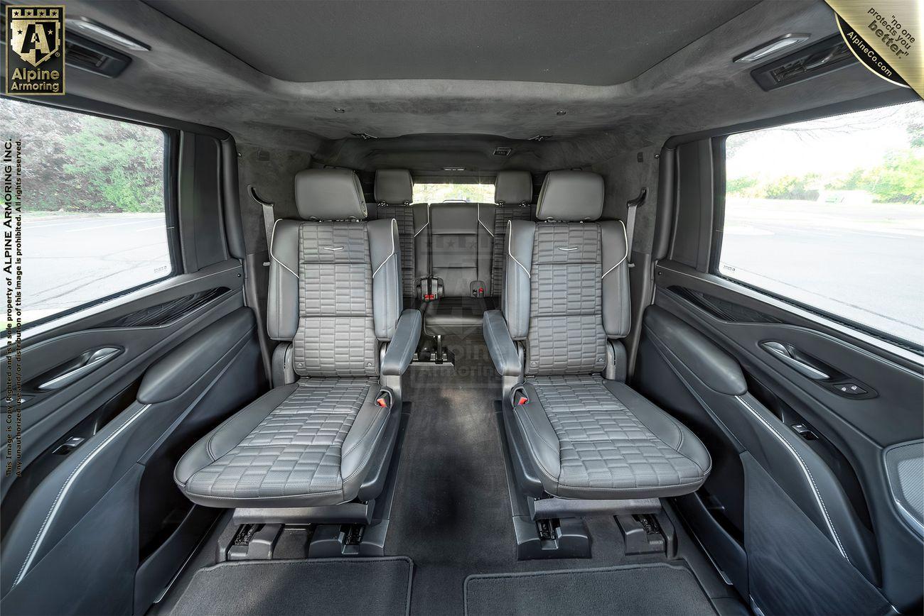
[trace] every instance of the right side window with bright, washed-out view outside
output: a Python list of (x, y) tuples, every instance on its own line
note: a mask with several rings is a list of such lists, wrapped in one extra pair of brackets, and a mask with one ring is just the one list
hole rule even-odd
[(924, 102), (725, 141), (718, 274), (924, 344)]

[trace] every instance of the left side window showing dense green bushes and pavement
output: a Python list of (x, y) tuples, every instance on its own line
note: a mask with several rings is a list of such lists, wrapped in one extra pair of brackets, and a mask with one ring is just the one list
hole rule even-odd
[(174, 273), (164, 131), (0, 99), (21, 146), (23, 326)]

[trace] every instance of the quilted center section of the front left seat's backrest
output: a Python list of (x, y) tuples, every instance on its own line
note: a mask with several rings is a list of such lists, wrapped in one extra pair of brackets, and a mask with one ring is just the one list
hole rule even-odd
[(365, 221), (298, 227), (299, 376), (376, 376), (372, 268)]

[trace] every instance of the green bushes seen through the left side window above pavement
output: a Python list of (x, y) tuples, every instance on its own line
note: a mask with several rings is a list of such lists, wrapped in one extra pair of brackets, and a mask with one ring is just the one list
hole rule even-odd
[(164, 135), (148, 126), (0, 100), (21, 139), (30, 211), (163, 212)]

